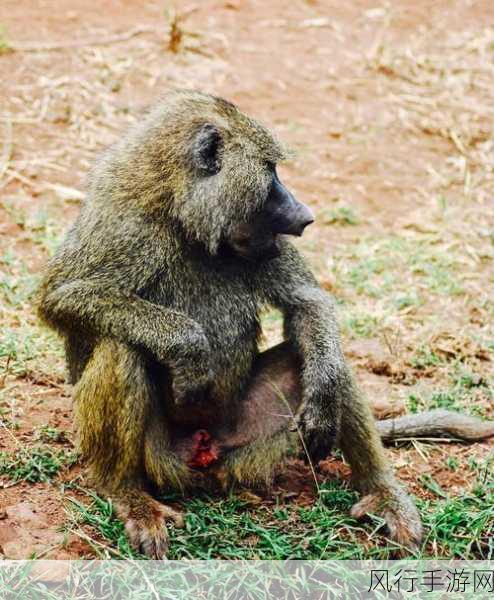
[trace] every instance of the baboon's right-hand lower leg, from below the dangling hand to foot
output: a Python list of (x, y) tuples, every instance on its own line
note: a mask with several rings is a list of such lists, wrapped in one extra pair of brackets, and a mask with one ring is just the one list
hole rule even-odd
[(395, 479), (367, 401), (355, 384), (345, 392), (339, 445), (352, 469), (352, 481), (363, 498), (352, 515), (382, 516), (390, 538), (406, 548), (422, 539), (420, 516), (405, 489)]

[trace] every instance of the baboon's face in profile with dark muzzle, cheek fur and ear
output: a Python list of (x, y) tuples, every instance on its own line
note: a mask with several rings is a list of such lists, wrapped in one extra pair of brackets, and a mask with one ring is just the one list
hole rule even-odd
[(243, 115), (235, 126), (205, 124), (197, 132), (190, 214), (200, 211), (201, 227), (210, 240), (215, 237), (210, 249), (256, 261), (272, 258), (279, 236), (302, 235), (314, 216), (279, 180), (281, 149), (269, 132)]

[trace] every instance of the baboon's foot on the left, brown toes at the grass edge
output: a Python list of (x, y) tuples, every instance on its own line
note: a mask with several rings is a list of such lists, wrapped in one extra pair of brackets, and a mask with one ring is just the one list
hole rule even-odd
[(183, 527), (181, 513), (161, 504), (149, 494), (132, 491), (120, 494), (115, 502), (117, 515), (125, 524), (131, 546), (149, 558), (166, 558), (168, 550), (167, 521)]

